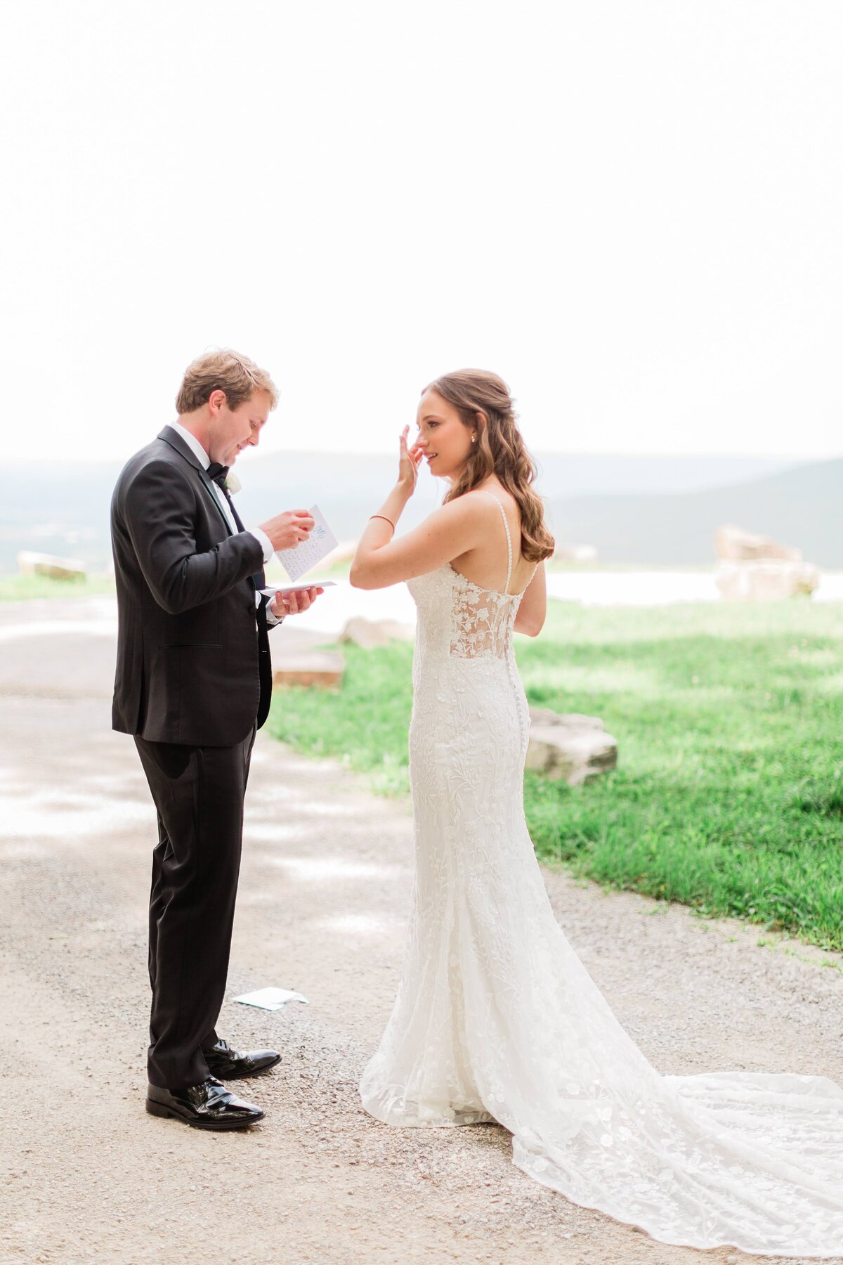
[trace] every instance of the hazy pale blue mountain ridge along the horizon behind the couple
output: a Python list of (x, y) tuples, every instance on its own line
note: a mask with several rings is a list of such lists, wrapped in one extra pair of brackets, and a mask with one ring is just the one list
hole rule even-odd
[[(696, 565), (714, 558), (714, 530), (737, 522), (808, 559), (843, 567), (838, 510), (843, 459), (598, 457), (537, 454), (538, 491), (562, 541), (593, 544), (600, 562)], [(0, 571), (20, 549), (72, 554), (94, 569), (110, 557), (109, 503), (118, 462), (5, 466), (0, 498)], [(246, 522), (279, 509), (318, 503), (340, 539), (359, 535), (394, 478), (387, 455), (254, 453), (238, 466)], [(643, 491), (642, 491), (643, 490)], [(402, 525), (439, 503), (441, 484), (422, 472)]]

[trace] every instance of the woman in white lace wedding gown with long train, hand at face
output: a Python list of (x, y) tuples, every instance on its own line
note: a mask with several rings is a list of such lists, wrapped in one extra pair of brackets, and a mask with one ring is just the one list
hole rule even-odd
[[(843, 1090), (822, 1077), (662, 1077), (556, 923), (527, 834), (527, 701), (512, 634), (545, 620), (554, 541), (507, 386), (432, 382), (351, 583), (418, 607), (409, 772), (416, 882), (403, 978), (360, 1083), (388, 1125), (497, 1121), (513, 1160), (662, 1242), (843, 1255)], [(427, 460), (445, 503), (393, 540)]]

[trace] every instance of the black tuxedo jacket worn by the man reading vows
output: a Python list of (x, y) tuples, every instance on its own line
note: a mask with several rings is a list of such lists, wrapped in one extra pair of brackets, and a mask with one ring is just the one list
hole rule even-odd
[(231, 535), (209, 476), (171, 426), (120, 474), (111, 544), (112, 727), (153, 743), (243, 741), (265, 720), (272, 692), (265, 611), (255, 605), (263, 550), (248, 531)]

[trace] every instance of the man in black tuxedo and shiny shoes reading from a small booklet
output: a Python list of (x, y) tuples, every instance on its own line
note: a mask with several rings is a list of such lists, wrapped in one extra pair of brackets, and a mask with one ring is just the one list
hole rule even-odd
[(152, 1016), (147, 1111), (198, 1128), (263, 1117), (221, 1084), (265, 1071), (215, 1031), (229, 965), (243, 797), (269, 711), (268, 629), (321, 589), (260, 595), (263, 565), (294, 548), (303, 510), (246, 530), (227, 468), (277, 404), (270, 377), (221, 350), (185, 373), (178, 420), (128, 462), (111, 501), (118, 589), (112, 727), (134, 735), (158, 810), (149, 902)]

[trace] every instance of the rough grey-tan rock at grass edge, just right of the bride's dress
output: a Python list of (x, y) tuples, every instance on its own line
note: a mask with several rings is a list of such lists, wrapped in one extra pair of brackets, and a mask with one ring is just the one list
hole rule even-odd
[(528, 769), (576, 787), (617, 765), (618, 744), (597, 716), (536, 707), (530, 720)]

